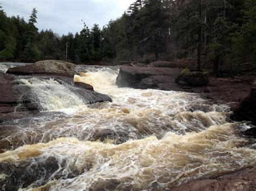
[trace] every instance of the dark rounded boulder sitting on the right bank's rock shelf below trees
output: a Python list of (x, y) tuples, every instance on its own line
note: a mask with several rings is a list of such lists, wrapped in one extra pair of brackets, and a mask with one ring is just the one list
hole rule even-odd
[(203, 72), (190, 72), (187, 74), (181, 74), (177, 77), (175, 82), (181, 86), (192, 87), (207, 86), (209, 83), (207, 75)]

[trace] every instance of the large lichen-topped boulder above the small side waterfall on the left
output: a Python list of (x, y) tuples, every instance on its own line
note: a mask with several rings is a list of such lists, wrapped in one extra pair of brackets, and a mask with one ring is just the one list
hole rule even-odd
[(54, 75), (73, 78), (75, 74), (75, 65), (64, 61), (45, 60), (31, 65), (9, 68), (6, 73), (16, 75)]

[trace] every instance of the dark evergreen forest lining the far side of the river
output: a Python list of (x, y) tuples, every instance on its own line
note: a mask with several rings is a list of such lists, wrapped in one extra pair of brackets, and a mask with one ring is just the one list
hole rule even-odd
[(136, 0), (102, 29), (84, 23), (79, 33), (61, 37), (37, 29), (36, 8), (26, 22), (21, 16), (7, 17), (1, 6), (0, 23), (1, 61), (182, 60), (197, 70), (210, 63), (218, 74), (220, 65), (256, 57), (255, 0)]

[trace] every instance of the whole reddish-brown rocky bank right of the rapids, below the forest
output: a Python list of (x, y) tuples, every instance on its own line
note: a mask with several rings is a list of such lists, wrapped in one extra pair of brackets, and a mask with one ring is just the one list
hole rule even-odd
[[(205, 80), (201, 74), (190, 76), (190, 82), (180, 81), (182, 69), (179, 68), (153, 68), (153, 67), (132, 67), (123, 66), (120, 68), (117, 77), (119, 87), (131, 87), (138, 89), (160, 89), (173, 91), (186, 91), (199, 93), (201, 96), (214, 102), (241, 102), (251, 91), (252, 83), (255, 80), (256, 72), (244, 73), (244, 75), (233, 77), (208, 76)], [(189, 75), (188, 75), (189, 76)], [(184, 78), (184, 77), (183, 77)], [(196, 81), (196, 82), (195, 82)], [(204, 83), (201, 83), (205, 81)], [(235, 105), (234, 105), (235, 106)]]

